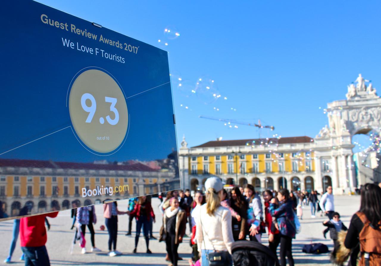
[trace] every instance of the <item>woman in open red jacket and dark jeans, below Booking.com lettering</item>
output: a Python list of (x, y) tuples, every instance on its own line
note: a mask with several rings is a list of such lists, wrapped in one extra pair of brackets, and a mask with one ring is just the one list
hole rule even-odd
[(147, 202), (146, 196), (139, 197), (138, 204), (135, 205), (134, 210), (130, 212), (130, 215), (136, 216), (136, 236), (135, 236), (135, 248), (134, 253), (136, 253), (136, 247), (138, 247), (139, 242), (139, 236), (141, 232), (141, 228), (143, 227), (143, 234), (146, 238), (146, 246), (147, 246), (147, 253), (152, 253), (148, 246), (149, 246), (149, 223), (151, 218), (153, 219), (154, 223), (155, 221), (155, 214), (152, 210), (151, 204)]

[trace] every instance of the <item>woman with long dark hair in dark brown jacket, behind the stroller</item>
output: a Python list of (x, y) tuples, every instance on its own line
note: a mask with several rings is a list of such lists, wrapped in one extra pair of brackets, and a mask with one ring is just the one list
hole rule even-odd
[(246, 220), (247, 220), (247, 201), (241, 194), (239, 187), (234, 187), (230, 192), (231, 207), (238, 213), (237, 216), (232, 215), (232, 229), (234, 241), (246, 238)]

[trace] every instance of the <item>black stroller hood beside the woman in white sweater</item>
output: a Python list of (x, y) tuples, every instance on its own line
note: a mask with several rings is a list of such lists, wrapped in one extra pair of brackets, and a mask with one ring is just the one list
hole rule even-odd
[(259, 242), (234, 242), (232, 256), (234, 266), (279, 266), (277, 256)]

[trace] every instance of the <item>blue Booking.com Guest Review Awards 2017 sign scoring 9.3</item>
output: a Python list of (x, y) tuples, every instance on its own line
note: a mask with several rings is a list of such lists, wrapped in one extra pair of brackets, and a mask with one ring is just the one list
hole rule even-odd
[(33, 1), (1, 13), (0, 220), (180, 188), (166, 51)]

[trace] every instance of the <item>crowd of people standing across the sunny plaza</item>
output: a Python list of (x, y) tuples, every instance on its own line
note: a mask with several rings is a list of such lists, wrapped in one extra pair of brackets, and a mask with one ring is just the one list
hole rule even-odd
[[(366, 184), (362, 187), (360, 210), (353, 215), (348, 228), (340, 220), (340, 214), (335, 212), (332, 187), (328, 186), (320, 199), (318, 195), (317, 191), (292, 192), (287, 189), (265, 190), (259, 194), (250, 184), (226, 190), (220, 178), (211, 177), (205, 182), (205, 194), (197, 190), (192, 197), (187, 189), (167, 192), (165, 198), (159, 195), (159, 210), (162, 214), (159, 241), (166, 245), (166, 260), (170, 261), (170, 266), (177, 266), (178, 261), (182, 260), (178, 247), (187, 236), (186, 233), (190, 236), (192, 250), (190, 266), (216, 265), (213, 261), (216, 257), (221, 265), (233, 265), (234, 242), (261, 243), (261, 236), (268, 234), (268, 248), (277, 262), (286, 266), (288, 261), (288, 265), (293, 266), (292, 241), (300, 229), (298, 226), (299, 219), (303, 219), (303, 208), (310, 205), (311, 218), (315, 218), (317, 212), (328, 218), (322, 224), (326, 227), (323, 236), (326, 237), (330, 232), (334, 246), (331, 253), (333, 261), (341, 261), (340, 264), (350, 257), (349, 265), (356, 265), (358, 259), (359, 265), (381, 265), (381, 186)], [(72, 207), (71, 229), (75, 231), (72, 250), (78, 242), (82, 254), (88, 252), (85, 240), (87, 227), (91, 239), (90, 251), (100, 252), (95, 245), (93, 224), (97, 222), (97, 216), (94, 206), (78, 207), (74, 201)], [(27, 215), (28, 211), (27, 206), (22, 208), (20, 216)], [(14, 220), (10, 254), (4, 262), (11, 262), (20, 235), (21, 260), (25, 260), (25, 265), (50, 265), (45, 247), (45, 223), (49, 229), (46, 217), (54, 218), (57, 215), (58, 212), (54, 212)], [(151, 205), (151, 196), (129, 199), (126, 211), (119, 210), (117, 202), (103, 205), (103, 217), (109, 234), (109, 256), (121, 254), (117, 250), (118, 215), (129, 216), (127, 236), (131, 235), (132, 223), (136, 221), (132, 252), (137, 252), (142, 230), (146, 253), (152, 253), (149, 241), (156, 239), (152, 234), (152, 225), (157, 218)], [(347, 234), (340, 238), (342, 232)]]

